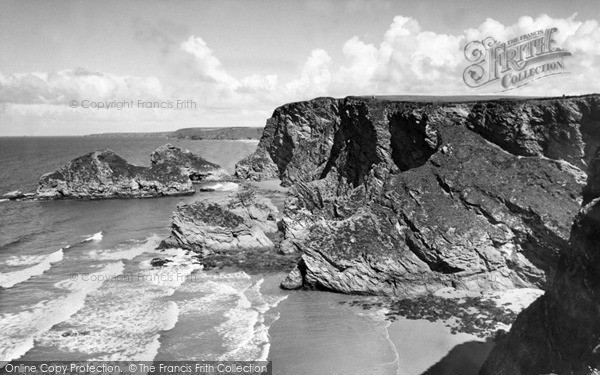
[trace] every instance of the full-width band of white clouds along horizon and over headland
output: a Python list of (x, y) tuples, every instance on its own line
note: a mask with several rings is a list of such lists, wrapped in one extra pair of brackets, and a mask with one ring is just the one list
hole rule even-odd
[[(315, 48), (286, 80), (274, 74), (235, 77), (202, 38), (192, 35), (157, 39), (154, 34), (144, 40), (148, 43), (158, 40), (161, 45), (176, 43), (173, 47), (160, 47), (168, 55), (163, 56), (166, 67), (173, 72), (173, 77), (161, 77), (162, 81), (151, 76), (119, 76), (85, 69), (0, 73), (0, 123), (31, 124), (37, 118), (44, 119), (44, 126), (53, 121), (68, 123), (81, 119), (152, 126), (261, 125), (275, 106), (317, 96), (489, 94), (501, 87), (472, 89), (463, 82), (463, 71), (470, 64), (464, 55), (465, 46), (486, 37), (504, 42), (551, 27), (558, 28), (554, 34), (556, 44), (573, 54), (565, 60), (566, 70), (571, 74), (539, 80), (509, 94), (600, 91), (600, 81), (596, 79), (600, 75), (597, 20), (580, 21), (577, 15), (568, 18), (540, 15), (524, 16), (505, 25), (488, 18), (477, 27), (451, 35), (423, 30), (418, 20), (399, 15), (376, 43), (348, 36), (340, 46), (340, 61), (334, 61), (328, 51)], [(125, 114), (91, 113), (68, 107), (72, 99), (130, 98), (193, 99), (199, 108), (186, 113), (129, 111)]]

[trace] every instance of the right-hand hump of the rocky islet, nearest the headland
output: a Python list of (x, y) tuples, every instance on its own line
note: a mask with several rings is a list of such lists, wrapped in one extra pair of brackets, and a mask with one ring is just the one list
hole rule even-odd
[(194, 155), (191, 151), (180, 149), (170, 143), (160, 146), (150, 156), (152, 165), (176, 164), (190, 176), (192, 182), (217, 181), (229, 176), (227, 171), (217, 164)]

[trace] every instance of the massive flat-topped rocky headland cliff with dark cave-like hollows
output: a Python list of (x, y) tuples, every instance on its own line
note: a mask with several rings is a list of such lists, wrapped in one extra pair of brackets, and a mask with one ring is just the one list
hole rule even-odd
[(236, 174), (293, 185), (284, 286), (414, 295), (543, 286), (600, 140), (598, 96), (275, 110)]

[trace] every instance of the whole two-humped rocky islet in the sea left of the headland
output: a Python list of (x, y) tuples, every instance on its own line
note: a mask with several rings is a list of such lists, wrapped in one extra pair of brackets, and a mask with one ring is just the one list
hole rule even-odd
[(111, 150), (78, 157), (40, 177), (37, 197), (146, 198), (193, 194), (191, 178), (219, 176), (221, 168), (171, 145), (152, 153), (150, 168), (129, 164)]

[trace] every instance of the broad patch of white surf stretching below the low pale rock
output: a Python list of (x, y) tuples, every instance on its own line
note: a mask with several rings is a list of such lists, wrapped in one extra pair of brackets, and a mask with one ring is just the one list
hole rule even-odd
[[(156, 239), (142, 245), (145, 251)], [(127, 274), (132, 278), (105, 283), (88, 296), (84, 309), (47, 332), (40, 343), (90, 360), (152, 361), (160, 349), (161, 335), (179, 319), (179, 307), (170, 296), (187, 275), (201, 268), (193, 254), (182, 249), (157, 253), (171, 262), (163, 267), (152, 267), (150, 259), (129, 264), (133, 269)], [(134, 252), (127, 253), (132, 255)], [(68, 334), (71, 331), (86, 334)]]

